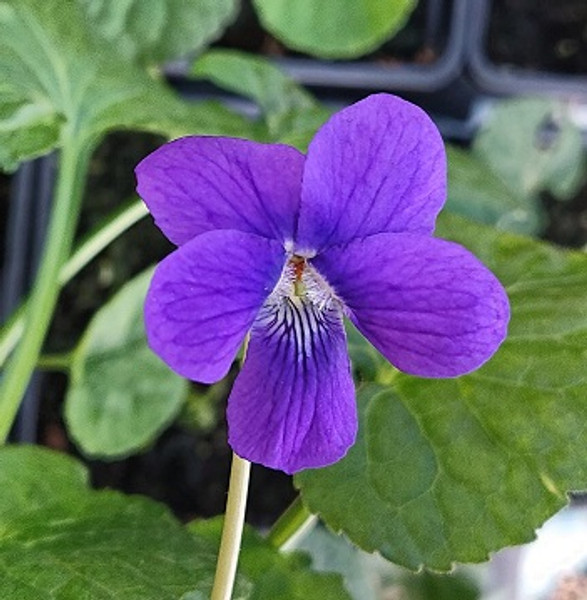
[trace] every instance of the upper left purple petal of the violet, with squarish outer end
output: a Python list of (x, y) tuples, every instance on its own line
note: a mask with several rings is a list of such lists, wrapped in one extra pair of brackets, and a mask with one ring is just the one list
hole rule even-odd
[(214, 229), (292, 239), (304, 156), (281, 144), (185, 137), (136, 167), (137, 191), (177, 245)]

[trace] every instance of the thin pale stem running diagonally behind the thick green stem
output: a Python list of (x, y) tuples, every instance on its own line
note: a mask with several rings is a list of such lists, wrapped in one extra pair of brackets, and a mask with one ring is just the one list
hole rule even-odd
[[(126, 203), (114, 215), (106, 219), (105, 222), (100, 223), (63, 265), (59, 272), (59, 285), (63, 286), (73, 279), (108, 244), (113, 242), (146, 214), (147, 209), (143, 202), (135, 199)], [(0, 330), (0, 367), (6, 362), (6, 359), (18, 344), (24, 332), (28, 304), (29, 301), (25, 300)]]

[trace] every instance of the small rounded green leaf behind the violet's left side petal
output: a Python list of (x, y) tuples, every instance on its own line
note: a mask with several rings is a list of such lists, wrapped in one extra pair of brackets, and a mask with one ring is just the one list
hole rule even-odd
[(143, 303), (152, 269), (135, 277), (92, 319), (75, 350), (65, 418), (90, 456), (141, 450), (179, 413), (188, 383), (147, 346)]

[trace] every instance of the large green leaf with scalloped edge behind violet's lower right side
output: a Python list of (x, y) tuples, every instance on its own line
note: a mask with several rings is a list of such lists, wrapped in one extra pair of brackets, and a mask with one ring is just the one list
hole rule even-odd
[(439, 234), (506, 286), (508, 339), (470, 375), (362, 389), (356, 445), (296, 485), (363, 549), (448, 570), (531, 540), (587, 485), (587, 256), (448, 215)]

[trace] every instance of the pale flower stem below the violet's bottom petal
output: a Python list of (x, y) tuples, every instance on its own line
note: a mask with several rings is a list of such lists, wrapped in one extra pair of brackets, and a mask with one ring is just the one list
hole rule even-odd
[(245, 523), (250, 470), (251, 463), (248, 460), (240, 458), (236, 454), (232, 455), (226, 515), (224, 517), (224, 527), (222, 528), (222, 539), (220, 540), (211, 600), (230, 600), (232, 597)]

